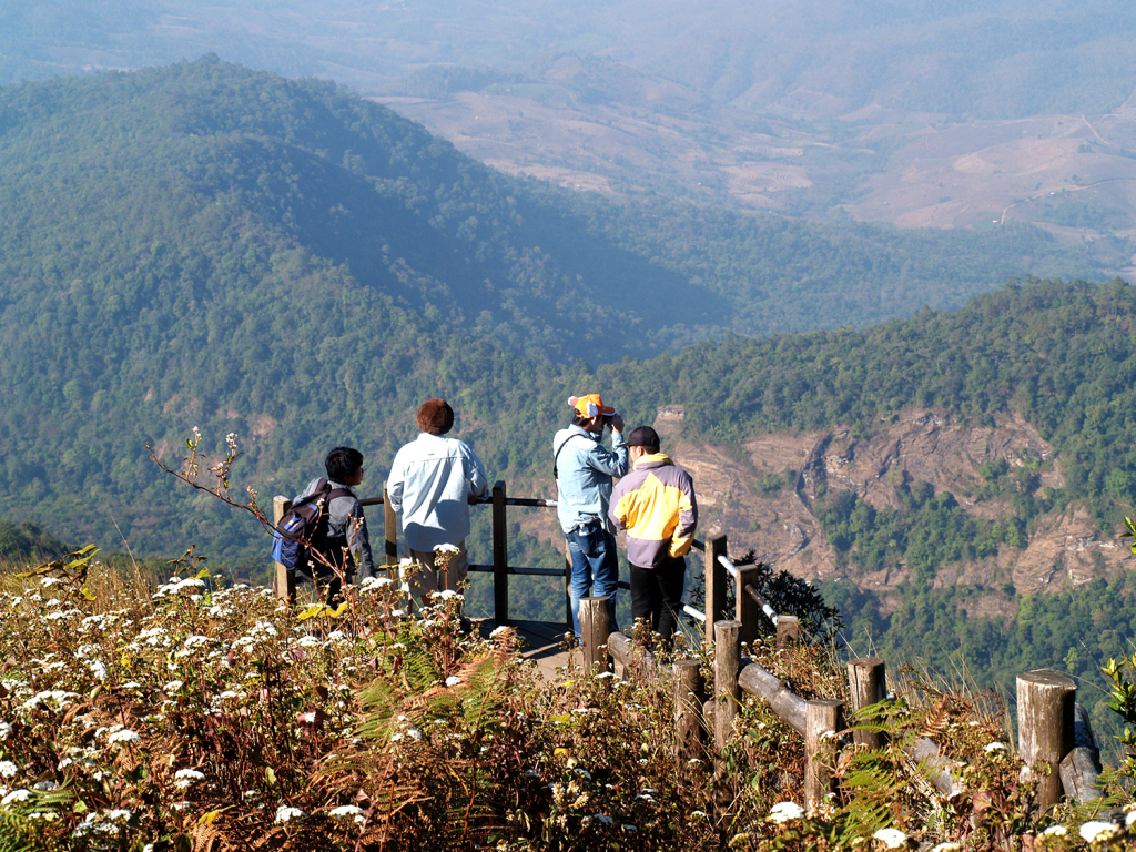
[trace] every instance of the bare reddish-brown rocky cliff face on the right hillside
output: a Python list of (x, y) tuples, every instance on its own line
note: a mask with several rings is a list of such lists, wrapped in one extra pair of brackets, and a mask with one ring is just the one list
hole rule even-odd
[[(936, 493), (951, 492), (966, 511), (997, 517), (1006, 511), (996, 501), (976, 502), (970, 494), (982, 485), (979, 468), (1004, 460), (1011, 468), (1031, 461), (1042, 465), (1038, 488), (1061, 487), (1061, 460), (1029, 424), (1000, 417), (993, 426), (953, 421), (928, 410), (908, 410), (868, 438), (847, 428), (800, 434), (768, 434), (747, 441), (743, 453), (694, 445), (678, 437), (679, 407), (659, 412), (655, 428), (665, 449), (694, 477), (703, 513), (701, 536), (725, 532), (730, 551), (753, 548), (760, 559), (804, 578), (844, 576), (861, 588), (887, 592), (911, 574), (907, 566), (876, 573), (837, 569), (836, 552), (825, 538), (813, 511), (819, 492), (854, 491), (877, 508), (896, 502), (895, 484), (921, 481)], [(1003, 545), (993, 558), (949, 565), (936, 585), (976, 584), (994, 588), (1012, 584), (1020, 594), (1077, 586), (1134, 566), (1134, 557), (1118, 538), (1102, 535), (1080, 509), (1041, 519), (1028, 545)], [(1008, 611), (1004, 594), (976, 602), (987, 613)]]

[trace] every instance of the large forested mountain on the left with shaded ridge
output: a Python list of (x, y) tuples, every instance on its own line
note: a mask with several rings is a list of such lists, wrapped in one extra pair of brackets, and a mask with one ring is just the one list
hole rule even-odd
[(1038, 258), (1056, 250), (1027, 229), (897, 236), (570, 195), (331, 84), (211, 58), (11, 86), (0, 506), (60, 534), (117, 523), (142, 550), (258, 552), (172, 495), (143, 442), (235, 431), (261, 492), (287, 491), (343, 441), (375, 476), (442, 394), (516, 475), (587, 369), (557, 362), (957, 304)]

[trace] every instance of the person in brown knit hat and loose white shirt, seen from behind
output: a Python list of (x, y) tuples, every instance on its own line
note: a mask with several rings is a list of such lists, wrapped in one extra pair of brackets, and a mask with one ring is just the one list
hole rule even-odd
[[(467, 443), (444, 437), (453, 427), (453, 409), (445, 400), (426, 400), (416, 419), (423, 434), (395, 453), (386, 493), (402, 516), (410, 558), (424, 568), (411, 577), (410, 593), (429, 603), (432, 593), (458, 591), (468, 576), (469, 498), (485, 496), (488, 479)], [(438, 560), (440, 545), (449, 545), (448, 561)], [(445, 570), (440, 571), (442, 562)]]

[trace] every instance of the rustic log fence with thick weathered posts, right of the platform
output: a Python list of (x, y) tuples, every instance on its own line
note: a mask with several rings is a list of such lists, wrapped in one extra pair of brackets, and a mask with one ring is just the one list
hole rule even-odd
[[(698, 661), (677, 662), (663, 669), (650, 652), (634, 646), (623, 633), (611, 630), (611, 616), (604, 598), (580, 602), (580, 630), (584, 663), (593, 673), (613, 671), (618, 661), (625, 677), (653, 673), (673, 682), (675, 702), (675, 757), (685, 763), (693, 757), (716, 760), (736, 736), (734, 721), (742, 693), (763, 700), (782, 721), (803, 740), (805, 808), (816, 811), (825, 796), (834, 792), (829, 767), (833, 753), (847, 743), (869, 747), (883, 745), (883, 734), (858, 729), (850, 721), (866, 707), (887, 700), (886, 666), (883, 660), (864, 658), (847, 663), (851, 707), (827, 699), (805, 701), (794, 694), (776, 675), (741, 654), (744, 642), (760, 635), (759, 612), (777, 627), (777, 644), (811, 641), (795, 618), (778, 616), (761, 599), (749, 580), (754, 567), (736, 567), (726, 556), (726, 536), (705, 542), (705, 612), (686, 607), (684, 611), (705, 624), (705, 642), (712, 645), (713, 695), (705, 695), (705, 684)], [(726, 613), (726, 591), (733, 575), (735, 611)], [(729, 616), (733, 616), (730, 618)], [(1018, 677), (1018, 753), (1026, 765), (1025, 775), (1037, 782), (1037, 804), (1042, 812), (1056, 804), (1062, 795), (1075, 801), (1099, 799), (1095, 783), (1101, 772), (1100, 749), (1088, 715), (1076, 702), (1077, 684), (1052, 671), (1030, 671)], [(708, 742), (708, 734), (712, 742)], [(912, 768), (920, 768), (926, 780), (944, 797), (962, 790), (954, 765), (939, 744), (920, 737), (908, 746)], [(822, 755), (828, 752), (828, 759)]]

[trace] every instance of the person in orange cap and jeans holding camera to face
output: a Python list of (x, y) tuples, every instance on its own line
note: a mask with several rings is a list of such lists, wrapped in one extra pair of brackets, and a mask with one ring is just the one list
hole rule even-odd
[[(573, 423), (552, 438), (552, 470), (557, 479), (557, 516), (571, 559), (573, 629), (579, 632), (579, 601), (590, 593), (610, 599), (616, 624), (619, 559), (616, 534), (608, 518), (611, 477), (626, 476), (627, 445), (624, 418), (603, 404), (598, 393), (570, 396)], [(603, 429), (611, 428), (611, 449), (603, 445)], [(594, 587), (593, 587), (594, 584)]]

